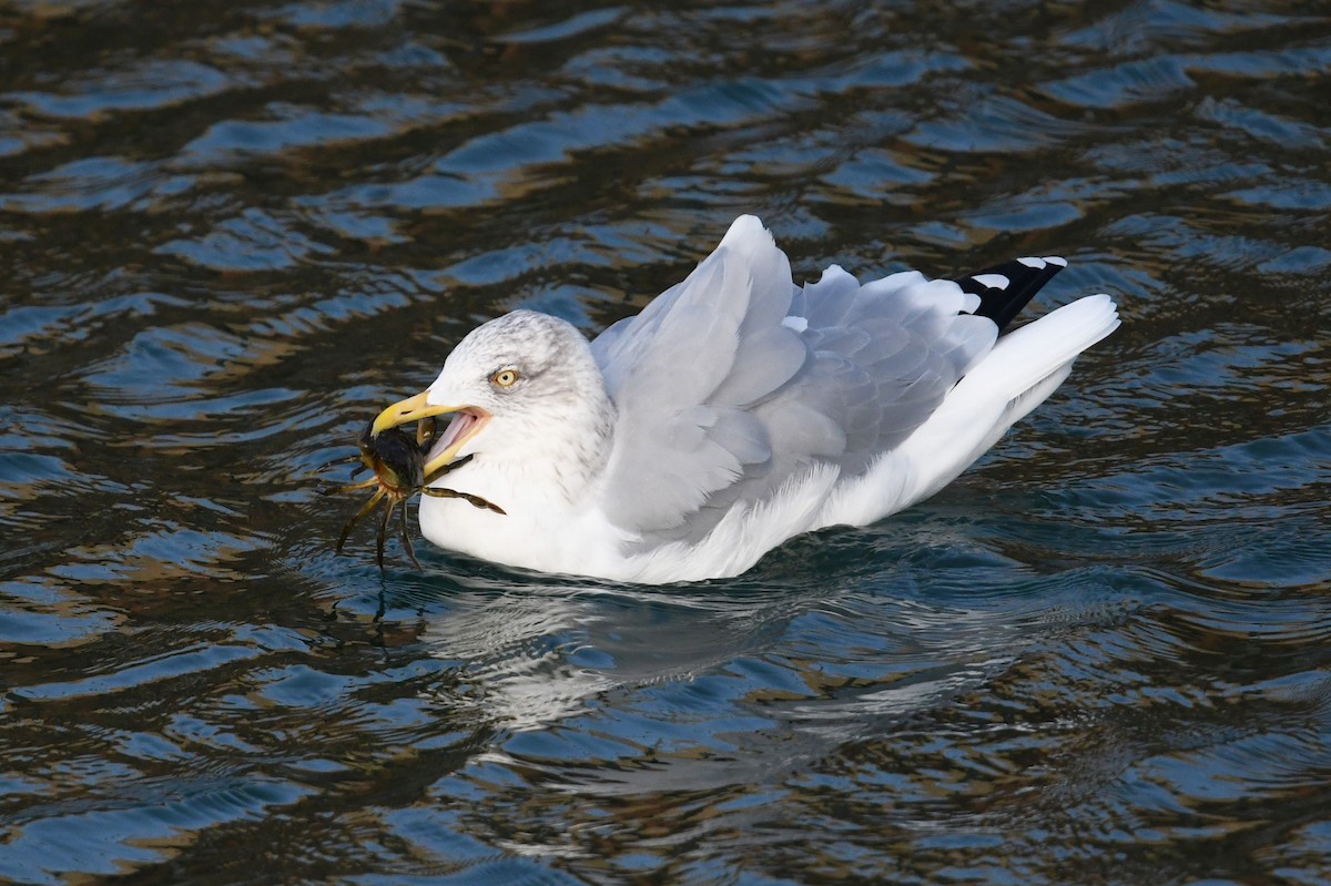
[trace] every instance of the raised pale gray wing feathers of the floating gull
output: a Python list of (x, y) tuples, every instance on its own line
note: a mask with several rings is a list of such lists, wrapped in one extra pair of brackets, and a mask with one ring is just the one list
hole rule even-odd
[(916, 271), (797, 289), (739, 218), (689, 277), (592, 353), (619, 418), (607, 516), (644, 541), (697, 540), (816, 466), (864, 474), (994, 343), (980, 297)]

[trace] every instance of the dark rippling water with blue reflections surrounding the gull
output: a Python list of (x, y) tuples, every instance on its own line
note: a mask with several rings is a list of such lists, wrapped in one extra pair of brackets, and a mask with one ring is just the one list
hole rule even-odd
[[(1323, 4), (0, 8), (0, 881), (1331, 881)], [(648, 589), (311, 471), (736, 214), (1125, 325), (962, 480)]]

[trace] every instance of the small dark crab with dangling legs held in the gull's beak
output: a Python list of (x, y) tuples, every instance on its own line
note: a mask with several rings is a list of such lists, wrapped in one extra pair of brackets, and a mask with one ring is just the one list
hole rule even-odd
[[(455, 462), (445, 464), (442, 468), (433, 471), (430, 476), (425, 475), (425, 462), (426, 451), (429, 444), (434, 440), (434, 420), (421, 422), (417, 427), (415, 436), (407, 434), (401, 427), (390, 427), (374, 432), (374, 422), (365, 426), (361, 432), (361, 439), (357, 446), (361, 450), (359, 455), (353, 455), (349, 459), (335, 459), (329, 462), (321, 470), (326, 470), (334, 464), (345, 464), (347, 462), (359, 462), (357, 468), (351, 471), (354, 478), (357, 474), (365, 468), (374, 471), (374, 476), (362, 480), (359, 483), (349, 483), (345, 486), (338, 486), (327, 490), (322, 490), (325, 495), (333, 495), (338, 492), (355, 492), (358, 490), (374, 488), (374, 495), (370, 500), (357, 511), (346, 525), (342, 527), (342, 535), (337, 540), (337, 553), (342, 553), (342, 545), (346, 544), (347, 536), (351, 529), (359, 523), (361, 517), (369, 515), (379, 504), (385, 502), (383, 510), (379, 515), (379, 532), (375, 545), (375, 561), (379, 564), (379, 569), (383, 569), (383, 539), (389, 531), (389, 520), (393, 519), (393, 512), (397, 510), (398, 504), (402, 504), (410, 499), (417, 492), (425, 495), (442, 498), (442, 499), (462, 499), (478, 508), (484, 508), (494, 511), (495, 514), (503, 514), (504, 510), (492, 502), (482, 499), (479, 495), (471, 495), (470, 492), (458, 492), (457, 490), (437, 488), (430, 486), (441, 476), (458, 470), (463, 464), (471, 460), (471, 455), (461, 458)], [(411, 549), (411, 536), (407, 532), (407, 511), (402, 508), (401, 520), (401, 537), (402, 547), (407, 552), (407, 557), (411, 559), (413, 565), (418, 569), (421, 568), (421, 561), (417, 560), (415, 551)]]

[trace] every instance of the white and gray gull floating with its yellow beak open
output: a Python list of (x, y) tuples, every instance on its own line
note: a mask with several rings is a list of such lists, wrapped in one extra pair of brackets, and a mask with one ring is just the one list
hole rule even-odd
[(425, 475), (434, 544), (539, 572), (739, 575), (785, 540), (865, 525), (950, 483), (1118, 327), (1109, 295), (1004, 331), (1066, 262), (797, 286), (752, 216), (684, 282), (587, 341), (516, 310), (473, 330), (371, 434), (451, 415)]

